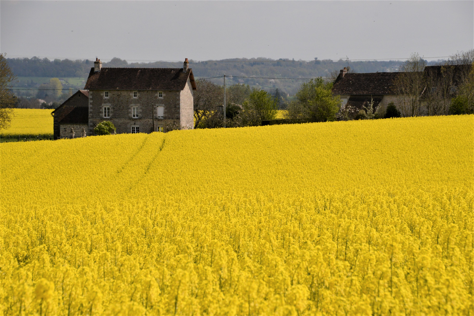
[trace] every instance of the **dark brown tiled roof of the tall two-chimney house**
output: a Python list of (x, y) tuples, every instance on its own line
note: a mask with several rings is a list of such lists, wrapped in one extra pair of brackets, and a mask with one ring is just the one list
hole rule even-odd
[(88, 90), (183, 90), (188, 79), (196, 82), (191, 68), (91, 68), (84, 89)]

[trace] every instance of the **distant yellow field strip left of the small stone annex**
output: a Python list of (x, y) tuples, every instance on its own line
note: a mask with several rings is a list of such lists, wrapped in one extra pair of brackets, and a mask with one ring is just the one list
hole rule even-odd
[(15, 108), (10, 127), (0, 129), (0, 136), (53, 135), (51, 109)]

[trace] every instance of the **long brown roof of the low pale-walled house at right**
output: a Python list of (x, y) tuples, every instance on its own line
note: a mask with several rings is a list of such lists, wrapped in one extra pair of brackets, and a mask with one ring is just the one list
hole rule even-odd
[(393, 80), (400, 72), (369, 72), (339, 74), (332, 93), (339, 95), (384, 95), (394, 94)]

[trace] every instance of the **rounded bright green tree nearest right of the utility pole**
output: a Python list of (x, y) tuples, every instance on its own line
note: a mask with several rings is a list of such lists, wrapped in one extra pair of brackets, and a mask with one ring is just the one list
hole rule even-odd
[(278, 101), (265, 90), (252, 89), (244, 101), (241, 120), (243, 126), (259, 126), (263, 120), (274, 119), (278, 113)]

